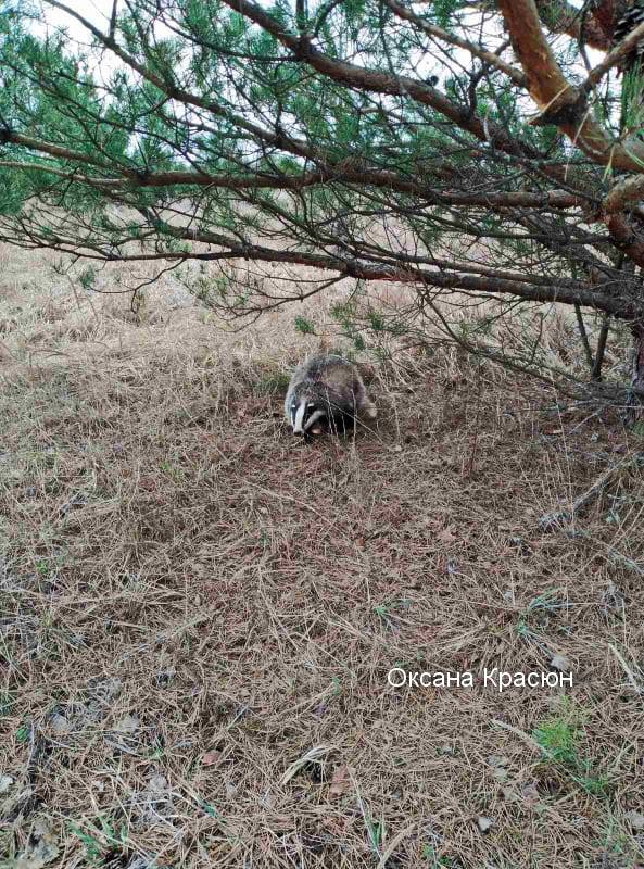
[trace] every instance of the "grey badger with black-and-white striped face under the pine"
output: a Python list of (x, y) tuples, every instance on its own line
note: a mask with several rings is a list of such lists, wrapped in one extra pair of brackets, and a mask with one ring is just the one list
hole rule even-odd
[(346, 433), (357, 416), (377, 416), (355, 365), (337, 355), (311, 356), (298, 365), (285, 399), (293, 434)]

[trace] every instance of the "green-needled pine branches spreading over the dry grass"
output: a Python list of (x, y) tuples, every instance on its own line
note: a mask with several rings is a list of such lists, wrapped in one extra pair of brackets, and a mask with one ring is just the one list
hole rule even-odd
[[(574, 90), (584, 49), (564, 5), (526, 9), (546, 72), (578, 95), (566, 111), (534, 86), (545, 61), (513, 53), (529, 67), (534, 46), (501, 0), (116, 0), (108, 17), (0, 0), (0, 239), (174, 267), (235, 318), (343, 281), (361, 345), (364, 330), (440, 335), (583, 379), (581, 341), (554, 370), (543, 304), (643, 313), (633, 194), (604, 213), (644, 165), (642, 75), (634, 60)], [(374, 281), (399, 288), (392, 323)], [(510, 345), (517, 305), (530, 328)]]

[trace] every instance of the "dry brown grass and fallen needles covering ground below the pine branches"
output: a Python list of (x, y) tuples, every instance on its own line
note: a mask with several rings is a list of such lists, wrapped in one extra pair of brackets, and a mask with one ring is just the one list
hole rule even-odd
[(307, 445), (292, 308), (233, 335), (167, 282), (134, 316), (49, 262), (0, 251), (0, 865), (644, 866), (618, 414), (401, 352), (366, 368), (378, 425)]

